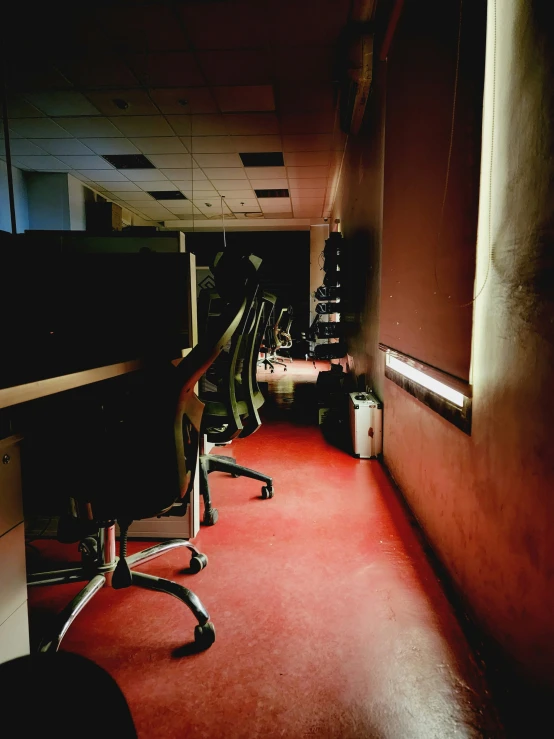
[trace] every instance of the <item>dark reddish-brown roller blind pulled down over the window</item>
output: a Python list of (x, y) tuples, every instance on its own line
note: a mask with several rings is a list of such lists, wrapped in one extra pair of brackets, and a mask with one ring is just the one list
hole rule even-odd
[(459, 2), (407, 0), (387, 62), (380, 340), (464, 380), (471, 358), (485, 12), (484, 0), (464, 0), (458, 37)]

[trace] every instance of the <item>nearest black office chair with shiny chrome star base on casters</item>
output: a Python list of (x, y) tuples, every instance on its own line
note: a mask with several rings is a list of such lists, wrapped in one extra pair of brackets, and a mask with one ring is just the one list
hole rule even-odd
[[(40, 652), (58, 650), (73, 620), (106, 584), (115, 589), (136, 585), (173, 595), (198, 621), (194, 630), (197, 648), (206, 649), (213, 644), (214, 626), (192, 591), (133, 569), (176, 547), (186, 547), (191, 551), (190, 570), (199, 572), (207, 564), (206, 556), (185, 539), (165, 541), (127, 556), (127, 529), (133, 520), (184, 515), (190, 504), (204, 411), (194, 387), (239, 326), (257, 286), (255, 271), (247, 259), (240, 260), (234, 270), (234, 297), (226, 301), (212, 330), (177, 366), (159, 359), (147, 362), (140, 382), (137, 381), (139, 387), (131, 393), (130, 402), (123, 404), (124, 412), (117, 402), (115, 410), (107, 412), (100, 438), (98, 425), (87, 424), (89, 419), (72, 429), (67, 440), (69, 455), (64, 462), (67, 479), (79, 487), (73, 505), (89, 531), (98, 533), (81, 541), (81, 566), (40, 572), (28, 578), (29, 585), (88, 581), (45, 634)], [(121, 531), (119, 559), (115, 548), (116, 522)]]

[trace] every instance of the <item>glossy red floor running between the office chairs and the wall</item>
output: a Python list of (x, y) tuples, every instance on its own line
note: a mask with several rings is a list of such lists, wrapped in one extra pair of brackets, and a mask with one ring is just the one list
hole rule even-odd
[[(503, 736), (380, 464), (330, 446), (306, 423), (311, 363), (263, 375), (269, 420), (225, 451), (273, 474), (275, 497), (213, 473), (219, 522), (197, 537), (208, 568), (180, 574), (182, 550), (144, 566), (199, 595), (214, 646), (180, 649), (194, 628), (187, 609), (131, 588), (97, 595), (63, 648), (116, 678), (140, 737)], [(35, 616), (60, 609), (75, 589), (32, 590)]]

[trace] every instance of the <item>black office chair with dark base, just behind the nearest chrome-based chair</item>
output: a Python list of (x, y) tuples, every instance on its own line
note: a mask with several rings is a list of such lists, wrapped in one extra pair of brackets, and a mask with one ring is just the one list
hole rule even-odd
[[(219, 287), (217, 270), (214, 270), (214, 276)], [(219, 282), (222, 277), (219, 274)], [(214, 295), (211, 299), (213, 301)], [(250, 436), (261, 426), (258, 411), (264, 403), (264, 396), (256, 377), (257, 359), (262, 335), (275, 300), (274, 295), (261, 292), (259, 288), (251, 295), (250, 304), (233, 336), (225, 362), (220, 361), (219, 367), (218, 361), (215, 363), (219, 377), (214, 377), (212, 373), (211, 378), (217, 390), (201, 395), (205, 409), (200, 446), (200, 493), (204, 500), (202, 523), (205, 526), (213, 526), (218, 520), (218, 511), (211, 501), (208, 481), (210, 472), (228, 472), (233, 477), (260, 480), (264, 483), (261, 497), (267, 500), (274, 495), (272, 477), (237, 464), (234, 457), (205, 454), (203, 443), (206, 439), (215, 445), (227, 444), (233, 439)], [(222, 357), (224, 352), (219, 355), (218, 360)]]

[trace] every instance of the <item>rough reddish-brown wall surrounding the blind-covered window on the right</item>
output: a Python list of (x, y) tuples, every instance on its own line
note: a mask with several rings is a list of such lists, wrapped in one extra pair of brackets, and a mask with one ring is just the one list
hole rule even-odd
[[(382, 387), (385, 463), (468, 608), (528, 677), (553, 686), (554, 32), (545, 2), (496, 0), (496, 13), (494, 5), (490, 0), (471, 437), (382, 380), (376, 313), (366, 313), (353, 347)], [(366, 152), (373, 146), (363, 145)], [(369, 192), (365, 178), (359, 184), (363, 157), (351, 151), (346, 159), (337, 210), (345, 234), (371, 234), (366, 253), (375, 264), (378, 216), (373, 206), (352, 205)], [(368, 274), (370, 303), (379, 288)]]

